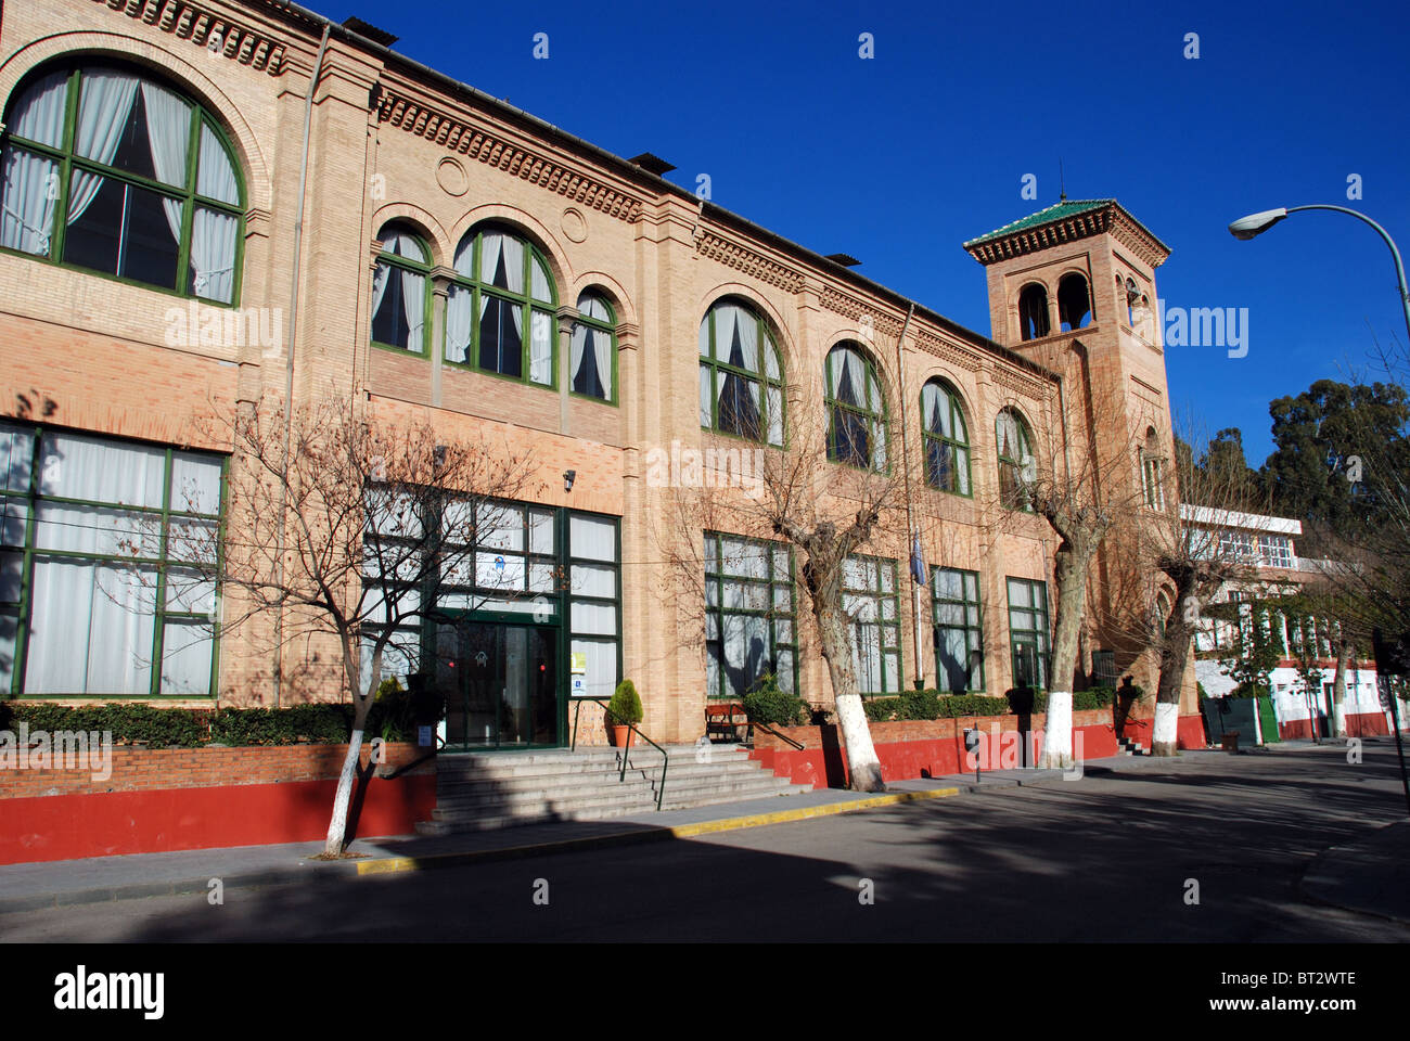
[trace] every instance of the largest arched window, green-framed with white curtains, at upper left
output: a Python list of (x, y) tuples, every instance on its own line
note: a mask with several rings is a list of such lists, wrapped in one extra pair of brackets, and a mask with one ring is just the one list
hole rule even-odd
[(6, 113), (0, 247), (234, 303), (244, 195), (192, 99), (121, 65), (30, 80)]

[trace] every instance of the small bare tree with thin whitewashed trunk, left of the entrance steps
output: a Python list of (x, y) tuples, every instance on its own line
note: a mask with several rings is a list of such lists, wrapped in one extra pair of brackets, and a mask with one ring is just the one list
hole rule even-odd
[(451, 591), (488, 595), (485, 580), (472, 580), (477, 546), (508, 528), (510, 501), (539, 489), (533, 464), (508, 444), (443, 437), (338, 394), (290, 413), (259, 402), (206, 423), (233, 446), (228, 535), (186, 526), (172, 554), (197, 581), (219, 584), (224, 633), (245, 629), (281, 662), (299, 642), (336, 643), (340, 674), (329, 681), (354, 707), (324, 845), (340, 856), (384, 662), (419, 671), (422, 622)]

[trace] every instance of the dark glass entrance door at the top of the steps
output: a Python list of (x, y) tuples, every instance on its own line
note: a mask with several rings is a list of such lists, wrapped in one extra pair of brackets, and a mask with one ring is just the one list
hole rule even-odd
[(447, 748), (558, 745), (557, 632), (454, 621), (437, 626)]

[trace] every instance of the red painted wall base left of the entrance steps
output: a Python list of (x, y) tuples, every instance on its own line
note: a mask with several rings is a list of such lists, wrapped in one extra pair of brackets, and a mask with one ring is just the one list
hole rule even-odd
[[(324, 838), (337, 780), (0, 800), (0, 863)], [(354, 835), (409, 835), (436, 808), (436, 776), (368, 781)]]

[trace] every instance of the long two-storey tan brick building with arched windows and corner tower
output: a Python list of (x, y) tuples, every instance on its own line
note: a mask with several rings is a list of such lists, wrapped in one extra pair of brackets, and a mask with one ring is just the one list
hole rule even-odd
[[(668, 489), (651, 465), (682, 447), (781, 450), (794, 395), (826, 402), (842, 456), (904, 447), (925, 522), (919, 597), (904, 536), (849, 570), (864, 693), (1048, 686), (1056, 540), (1015, 477), (1073, 454), (1115, 473), (1139, 444), (1117, 480), (1152, 506), (1175, 495), (1155, 236), (1112, 199), (1062, 200), (966, 243), (990, 339), (697, 199), (654, 157), (609, 155), (386, 42), (259, 0), (6, 8), (0, 694), (338, 695), (319, 640), (285, 652), (276, 690), (266, 652), (217, 638), (217, 590), (100, 592), (124, 516), (164, 532), (223, 519), (243, 461), (193, 420), (286, 384), (295, 401), (343, 394), (525, 446), (546, 491), (522, 504), (510, 568), (534, 554), (595, 568), (591, 595), (563, 594), (547, 621), (522, 612), (532, 577), (458, 619), (461, 653), (484, 649), (479, 667), (536, 724), (486, 717), (457, 687), (455, 741), (564, 743), (571, 691), (606, 695), (623, 676), (666, 741), (697, 738), (706, 697), (764, 669), (830, 701), (792, 553), (699, 533), (719, 597), (704, 649), (685, 621), (701, 605), (658, 595)], [(197, 336), (210, 309), (234, 320)], [(186, 511), (178, 487), (199, 492)], [(553, 535), (534, 544), (540, 528)], [(719, 563), (732, 557), (753, 563)], [(145, 566), (179, 571), (162, 554)], [(1108, 643), (1089, 626), (1084, 663)], [(547, 688), (529, 690), (534, 663)], [(389, 669), (416, 664), (431, 667)], [(1115, 667), (1153, 690), (1149, 655)], [(1189, 688), (1193, 717), (1193, 674)]]

